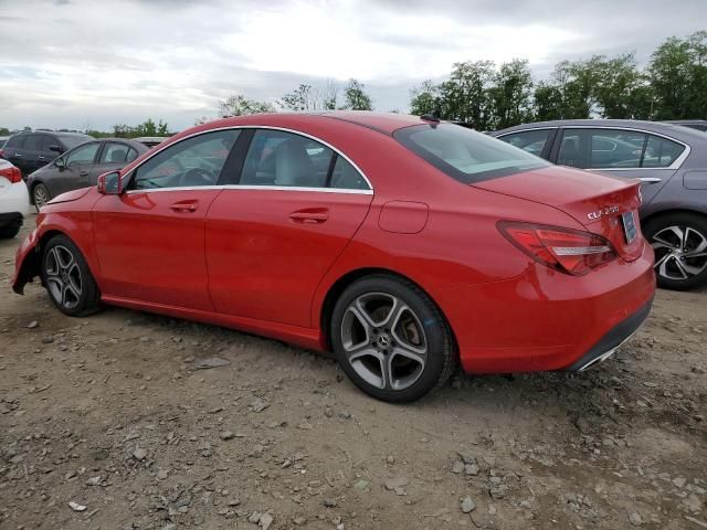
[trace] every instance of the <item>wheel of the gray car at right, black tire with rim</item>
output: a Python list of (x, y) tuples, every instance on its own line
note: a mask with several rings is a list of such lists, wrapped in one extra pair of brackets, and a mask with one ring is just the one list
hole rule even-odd
[[(671, 227), (688, 233), (687, 241), (683, 245), (684, 256), (666, 248), (663, 242), (677, 246), (678, 236)], [(696, 213), (669, 213), (648, 221), (643, 229), (645, 239), (655, 250), (656, 278), (658, 287), (672, 290), (693, 289), (707, 282), (707, 256), (690, 257), (690, 250), (694, 251), (698, 242), (707, 241), (707, 216)], [(657, 241), (656, 236), (661, 240)], [(667, 254), (667, 263), (663, 266), (662, 259)], [(678, 257), (679, 256), (679, 257)], [(678, 263), (679, 262), (679, 263)], [(684, 266), (687, 265), (689, 271)], [(682, 268), (682, 271), (680, 271)], [(699, 272), (698, 272), (699, 271)], [(697, 272), (692, 274), (690, 272)], [(680, 277), (686, 275), (687, 277)]]

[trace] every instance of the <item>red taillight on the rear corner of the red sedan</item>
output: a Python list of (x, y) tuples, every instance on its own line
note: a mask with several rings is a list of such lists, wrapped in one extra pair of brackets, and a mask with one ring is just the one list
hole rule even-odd
[(513, 221), (500, 221), (498, 230), (536, 262), (574, 276), (616, 257), (606, 239), (590, 232)]

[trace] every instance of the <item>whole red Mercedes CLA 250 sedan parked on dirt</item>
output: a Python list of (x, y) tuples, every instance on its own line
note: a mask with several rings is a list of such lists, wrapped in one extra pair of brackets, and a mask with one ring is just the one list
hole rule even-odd
[(101, 304), (334, 351), (365, 392), (583, 370), (646, 318), (639, 183), (373, 113), (186, 130), (55, 198), (17, 255), (71, 316)]

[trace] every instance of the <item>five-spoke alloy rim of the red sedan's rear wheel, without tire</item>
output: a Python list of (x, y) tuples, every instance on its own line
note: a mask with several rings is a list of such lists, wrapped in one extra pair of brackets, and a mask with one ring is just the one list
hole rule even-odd
[(428, 363), (428, 340), (420, 318), (393, 295), (357, 297), (344, 314), (340, 331), (350, 367), (378, 389), (410, 388)]

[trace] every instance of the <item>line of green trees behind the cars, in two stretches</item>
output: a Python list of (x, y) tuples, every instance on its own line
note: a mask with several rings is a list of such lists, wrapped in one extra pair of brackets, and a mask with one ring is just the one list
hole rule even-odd
[[(339, 96), (342, 96), (339, 99)], [(219, 117), (276, 110), (371, 110), (365, 85), (350, 80), (316, 87), (300, 84), (276, 103), (235, 94), (219, 103)], [(669, 38), (640, 67), (634, 53), (561, 61), (537, 81), (528, 61), (455, 63), (446, 80), (411, 91), (410, 114), (435, 114), (493, 130), (527, 121), (707, 118), (707, 31)], [(200, 118), (203, 123), (209, 118)]]

